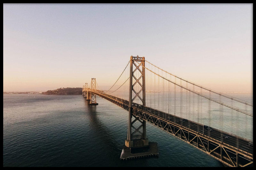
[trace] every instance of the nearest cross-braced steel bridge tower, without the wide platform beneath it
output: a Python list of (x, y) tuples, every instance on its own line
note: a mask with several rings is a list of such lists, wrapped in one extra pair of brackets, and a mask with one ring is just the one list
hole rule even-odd
[[(137, 61), (139, 65), (137, 65)], [(135, 69), (133, 70), (133, 65), (135, 66)], [(142, 67), (143, 66), (143, 67)], [(138, 72), (139, 77), (137, 78), (135, 76), (135, 72)], [(135, 82), (133, 82), (133, 79)], [(142, 79), (142, 83), (140, 81)], [(133, 57), (131, 56), (130, 59), (130, 88), (129, 88), (129, 120), (128, 120), (128, 134), (127, 139), (125, 140), (125, 146), (126, 147), (142, 147), (148, 145), (148, 139), (146, 136), (146, 121), (140, 120), (139, 117), (135, 117), (132, 112), (132, 102), (136, 97), (140, 99), (142, 102), (142, 105), (146, 105), (146, 91), (145, 91), (145, 57)], [(142, 96), (140, 93), (142, 92)], [(135, 120), (132, 121), (132, 117), (135, 118)], [(136, 124), (140, 124), (138, 128), (135, 127)], [(134, 131), (132, 132), (132, 128)], [(142, 131), (140, 131), (142, 128)]]

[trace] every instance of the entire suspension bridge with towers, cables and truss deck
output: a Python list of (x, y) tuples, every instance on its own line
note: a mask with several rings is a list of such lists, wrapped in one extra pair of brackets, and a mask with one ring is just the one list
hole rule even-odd
[(107, 91), (92, 78), (83, 96), (92, 105), (100, 96), (129, 112), (120, 159), (158, 156), (157, 143), (146, 135), (148, 122), (226, 166), (253, 166), (252, 103), (184, 80), (145, 57), (131, 56)]

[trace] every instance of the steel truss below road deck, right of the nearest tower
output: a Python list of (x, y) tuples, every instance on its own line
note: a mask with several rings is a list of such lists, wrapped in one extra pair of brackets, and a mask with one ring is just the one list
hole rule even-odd
[[(238, 152), (236, 149), (221, 144), (216, 139), (211, 139), (207, 135), (199, 134), (196, 131), (188, 129), (179, 124), (171, 123), (155, 115), (148, 114), (141, 110), (136, 110), (136, 116), (149, 123), (159, 127), (160, 129), (172, 134), (173, 136), (183, 140), (184, 142), (196, 147), (197, 149), (207, 153), (220, 162), (236, 167), (247, 166), (253, 163), (252, 156)], [(238, 162), (238, 165), (237, 165)]]

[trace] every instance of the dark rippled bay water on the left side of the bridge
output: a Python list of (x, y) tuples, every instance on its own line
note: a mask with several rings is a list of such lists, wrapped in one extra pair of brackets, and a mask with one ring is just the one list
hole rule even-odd
[(158, 158), (120, 160), (128, 112), (97, 96), (3, 96), (3, 166), (223, 166), (218, 160), (147, 123)]

